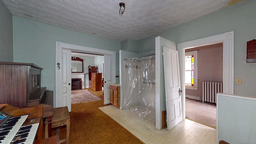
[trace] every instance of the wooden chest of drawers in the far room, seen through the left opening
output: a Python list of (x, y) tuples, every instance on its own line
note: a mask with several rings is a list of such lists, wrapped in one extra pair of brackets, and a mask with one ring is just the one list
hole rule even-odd
[(92, 73), (91, 88), (95, 91), (102, 90), (102, 73)]

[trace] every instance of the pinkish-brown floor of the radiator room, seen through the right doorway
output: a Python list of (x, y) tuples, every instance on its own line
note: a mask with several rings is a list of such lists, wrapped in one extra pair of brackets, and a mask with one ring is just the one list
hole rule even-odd
[(186, 118), (216, 128), (216, 104), (186, 98)]

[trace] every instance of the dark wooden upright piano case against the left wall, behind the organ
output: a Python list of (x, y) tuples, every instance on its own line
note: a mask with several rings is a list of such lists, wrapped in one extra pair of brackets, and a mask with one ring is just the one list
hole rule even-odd
[(43, 68), (29, 63), (0, 62), (0, 103), (24, 108), (39, 105)]

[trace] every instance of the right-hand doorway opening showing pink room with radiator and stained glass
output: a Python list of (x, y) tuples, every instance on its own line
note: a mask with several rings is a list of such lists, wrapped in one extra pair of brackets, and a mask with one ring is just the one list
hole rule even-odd
[[(222, 83), (222, 46), (219, 43), (185, 50), (186, 118), (213, 128), (216, 128), (216, 101), (202, 98), (203, 82)], [(210, 97), (215, 100), (216, 94)]]

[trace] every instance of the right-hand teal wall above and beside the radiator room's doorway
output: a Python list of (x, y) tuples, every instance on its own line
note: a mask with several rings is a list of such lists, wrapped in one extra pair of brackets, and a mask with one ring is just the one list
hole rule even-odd
[(181, 43), (234, 31), (234, 94), (256, 96), (256, 63), (246, 63), (246, 42), (256, 39), (256, 1), (246, 0), (138, 41), (140, 52), (154, 50), (155, 37)]

